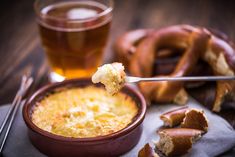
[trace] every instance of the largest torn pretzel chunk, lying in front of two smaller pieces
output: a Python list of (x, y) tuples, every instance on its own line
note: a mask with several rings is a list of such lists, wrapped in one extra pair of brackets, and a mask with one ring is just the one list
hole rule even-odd
[(163, 129), (158, 132), (160, 140), (157, 148), (166, 156), (187, 153), (192, 144), (201, 137), (202, 131), (188, 128)]

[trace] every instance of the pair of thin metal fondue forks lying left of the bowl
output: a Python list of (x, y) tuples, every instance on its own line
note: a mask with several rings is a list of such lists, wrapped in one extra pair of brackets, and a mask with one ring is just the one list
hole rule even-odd
[[(6, 132), (3, 134), (3, 140), (0, 145), (0, 154), (2, 155), (2, 151), (5, 145), (5, 142), (7, 140), (8, 134), (11, 130), (12, 123), (16, 117), (17, 110), (22, 103), (22, 98), (24, 95), (27, 93), (28, 89), (30, 88), (31, 84), (33, 83), (33, 78), (32, 77), (27, 77), (24, 75), (21, 80), (20, 88), (16, 93), (16, 96), (12, 102), (12, 105), (10, 109), (8, 110), (6, 117), (4, 118), (4, 121), (0, 127), (0, 136), (2, 136), (2, 132), (6, 127)], [(9, 121), (8, 125), (7, 122)]]

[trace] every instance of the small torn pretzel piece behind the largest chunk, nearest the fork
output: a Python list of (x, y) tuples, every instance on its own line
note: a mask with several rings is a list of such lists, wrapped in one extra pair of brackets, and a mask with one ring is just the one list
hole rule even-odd
[(174, 127), (183, 121), (185, 113), (188, 109), (189, 108), (187, 106), (177, 108), (175, 110), (163, 113), (160, 116), (160, 119), (164, 122), (164, 126)]

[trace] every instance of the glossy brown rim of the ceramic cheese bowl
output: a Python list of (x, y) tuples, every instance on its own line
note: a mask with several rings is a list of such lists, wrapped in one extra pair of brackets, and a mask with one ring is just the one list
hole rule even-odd
[[(44, 95), (46, 93), (48, 93), (50, 90), (59, 88), (59, 87), (63, 87), (66, 86), (68, 84), (74, 84), (74, 83), (79, 83), (82, 82), (85, 83), (85, 86), (87, 86), (87, 84), (89, 85), (89, 83), (91, 82), (91, 79), (88, 78), (79, 78), (79, 79), (70, 79), (70, 80), (65, 80), (62, 82), (56, 82), (56, 83), (50, 83), (47, 84), (41, 88), (39, 88), (36, 92), (34, 92), (27, 100), (26, 103), (23, 106), (23, 119), (25, 121), (25, 124), (27, 125), (27, 127), (29, 129), (31, 129), (33, 132), (36, 132), (42, 136), (46, 136), (48, 138), (52, 138), (55, 139), (57, 141), (61, 141), (61, 142), (87, 142), (87, 143), (93, 143), (93, 142), (105, 142), (108, 141), (110, 139), (116, 139), (118, 137), (121, 136), (125, 136), (127, 135), (129, 132), (131, 132), (132, 130), (134, 130), (136, 127), (138, 127), (144, 120), (145, 114), (146, 114), (146, 101), (144, 99), (144, 96), (137, 90), (134, 89), (133, 87), (131, 87), (130, 85), (125, 85), (123, 87), (123, 89), (127, 89), (129, 90), (131, 93), (133, 93), (135, 95), (135, 97), (137, 99), (139, 99), (139, 106), (138, 106), (138, 113), (135, 117), (135, 119), (128, 124), (125, 128), (118, 130), (114, 133), (111, 134), (107, 134), (104, 136), (98, 136), (98, 137), (86, 137), (86, 138), (74, 138), (74, 137), (65, 137), (65, 136), (61, 136), (61, 135), (56, 135), (53, 133), (50, 133), (48, 131), (45, 131), (41, 128), (39, 128), (38, 126), (36, 126), (31, 118), (30, 118), (30, 109), (31, 107), (33, 107), (34, 105), (32, 104), (35, 99), (40, 96), (40, 95)], [(91, 84), (92, 85), (92, 84)]]

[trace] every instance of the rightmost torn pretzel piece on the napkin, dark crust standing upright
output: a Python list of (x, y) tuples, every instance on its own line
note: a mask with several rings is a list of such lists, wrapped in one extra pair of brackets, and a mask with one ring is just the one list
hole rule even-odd
[(189, 109), (185, 113), (185, 118), (181, 123), (182, 128), (199, 129), (204, 132), (208, 130), (208, 120), (203, 110)]

